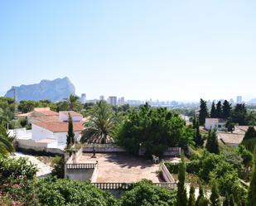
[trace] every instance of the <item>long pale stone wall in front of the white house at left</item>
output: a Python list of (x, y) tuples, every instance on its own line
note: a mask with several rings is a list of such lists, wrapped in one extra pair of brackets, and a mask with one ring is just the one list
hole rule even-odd
[(64, 154), (64, 151), (59, 148), (47, 148), (47, 143), (36, 142), (32, 139), (17, 139), (14, 144), (18, 149), (24, 149), (27, 151), (42, 151), (56, 155)]

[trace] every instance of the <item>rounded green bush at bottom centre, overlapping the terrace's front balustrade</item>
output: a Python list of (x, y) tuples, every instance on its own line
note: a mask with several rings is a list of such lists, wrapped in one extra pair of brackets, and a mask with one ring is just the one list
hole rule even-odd
[(142, 180), (134, 188), (123, 194), (120, 206), (172, 206), (176, 203), (176, 194), (168, 189)]

